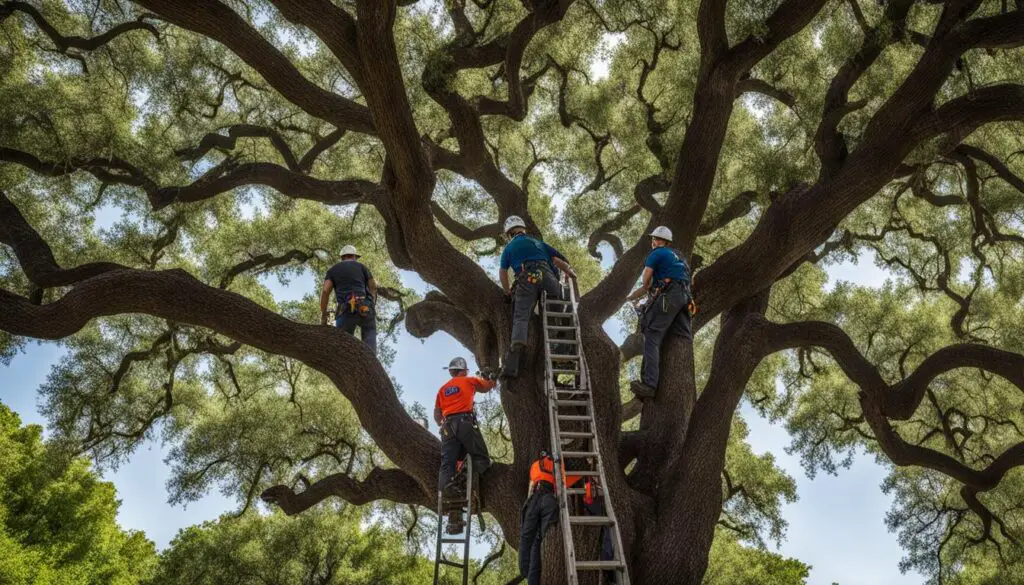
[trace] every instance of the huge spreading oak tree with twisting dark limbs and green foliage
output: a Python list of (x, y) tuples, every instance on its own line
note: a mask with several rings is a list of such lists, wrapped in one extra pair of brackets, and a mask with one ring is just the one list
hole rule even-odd
[[(510, 317), (483, 265), (514, 213), (582, 269), (634, 583), (700, 583), (716, 527), (778, 536), (792, 482), (743, 446), (744, 393), (812, 471), (861, 447), (891, 466), (906, 567), (1017, 561), (1019, 1), (5, 0), (0, 20), (0, 347), (68, 339), (47, 410), (97, 459), (163, 429), (176, 498), (429, 506), (438, 441), (384, 367), (258, 277), (372, 247), (389, 325), (494, 366)], [(657, 224), (691, 255), (698, 332), (638, 404), (637, 337), (603, 326)], [(884, 288), (823, 288), (872, 253)], [(511, 542), (548, 436), (539, 357), (535, 327), (482, 486)]]

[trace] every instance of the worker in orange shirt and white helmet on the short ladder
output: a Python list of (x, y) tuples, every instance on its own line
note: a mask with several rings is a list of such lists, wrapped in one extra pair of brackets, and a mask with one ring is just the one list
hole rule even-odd
[[(490, 467), (487, 445), (476, 423), (473, 399), (476, 392), (488, 392), (497, 383), (489, 372), (486, 377), (469, 375), (469, 367), (464, 358), (455, 358), (447, 365), (452, 379), (437, 391), (434, 402), (434, 422), (441, 432), (441, 469), (437, 478), (437, 490), (445, 496), (455, 496), (462, 491), (453, 478), (456, 464), (465, 456), (473, 458), (473, 484)], [(460, 534), (465, 528), (462, 510), (449, 514), (449, 534)]]

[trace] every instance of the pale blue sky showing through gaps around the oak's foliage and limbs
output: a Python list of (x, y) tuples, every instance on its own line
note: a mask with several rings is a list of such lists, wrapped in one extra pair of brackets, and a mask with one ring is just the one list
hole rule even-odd
[[(838, 280), (878, 286), (886, 274), (862, 260), (829, 268), (829, 286)], [(422, 281), (404, 275), (406, 284), (420, 288)], [(318, 278), (295, 279), (290, 286), (275, 280), (267, 284), (281, 298), (299, 298), (315, 290)], [(418, 282), (419, 281), (419, 282)], [(421, 341), (402, 333), (396, 344), (397, 359), (392, 370), (409, 400), (431, 404), (436, 387), (444, 381), (440, 366), (466, 351), (451, 337), (437, 334)], [(11, 366), (0, 371), (0, 401), (16, 411), (27, 423), (45, 424), (36, 408), (35, 390), (60, 356), (53, 344), (34, 344), (17, 356)], [(882, 494), (880, 485), (885, 470), (868, 457), (858, 457), (849, 470), (839, 476), (819, 474), (809, 479), (799, 458), (784, 448), (790, 443), (785, 429), (772, 425), (744, 406), (742, 413), (750, 423), (750, 441), (758, 453), (771, 452), (779, 465), (797, 478), (800, 500), (785, 506), (790, 521), (786, 540), (777, 550), (813, 566), (812, 585), (910, 585), (920, 584), (919, 575), (901, 575), (897, 562), (902, 556), (895, 535), (884, 524), (891, 500)], [(122, 500), (119, 521), (129, 529), (142, 530), (163, 548), (181, 528), (213, 519), (236, 508), (236, 502), (211, 493), (187, 506), (167, 503), (165, 484), (169, 478), (163, 460), (165, 449), (150, 444), (139, 449), (131, 460), (106, 473)]]

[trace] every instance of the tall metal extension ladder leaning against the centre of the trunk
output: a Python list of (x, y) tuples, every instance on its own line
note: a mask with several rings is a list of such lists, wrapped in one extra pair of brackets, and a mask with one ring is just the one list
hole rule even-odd
[[(564, 467), (566, 473), (580, 475), (585, 479), (594, 476), (599, 478), (598, 493), (592, 496), (603, 500), (605, 514), (573, 515), (569, 498), (582, 497), (586, 489), (565, 489), (565, 474), (554, 474), (558, 488), (558, 509), (561, 520), (559, 525), (562, 541), (565, 543), (567, 584), (578, 585), (581, 571), (609, 571), (614, 573), (617, 585), (630, 585), (622, 533), (611, 505), (611, 498), (607, 493), (608, 483), (597, 440), (594, 401), (588, 380), (587, 361), (581, 343), (583, 337), (580, 334), (579, 299), (572, 283), (565, 288), (568, 289), (568, 294), (565, 295), (568, 300), (552, 300), (548, 298), (547, 293), (542, 293), (541, 296), (546, 368), (545, 390), (548, 394), (548, 416), (551, 425), (551, 454), (555, 469)], [(555, 353), (555, 349), (559, 352)], [(571, 381), (567, 384), (559, 381), (565, 379)], [(563, 441), (571, 446), (571, 451), (562, 450)], [(609, 530), (612, 558), (610, 560), (577, 558), (575, 544), (572, 540), (572, 527), (577, 526)], [(603, 536), (601, 535), (601, 538)]]

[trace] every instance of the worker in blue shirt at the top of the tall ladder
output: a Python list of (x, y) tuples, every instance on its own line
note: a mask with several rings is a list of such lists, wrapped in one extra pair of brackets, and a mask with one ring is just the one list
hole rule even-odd
[[(558, 250), (526, 234), (526, 223), (517, 215), (505, 220), (505, 236), (509, 243), (502, 250), (498, 279), (505, 290), (506, 298), (512, 302), (512, 343), (502, 367), (502, 377), (514, 378), (519, 375), (519, 359), (526, 346), (529, 332), (529, 318), (534, 306), (547, 291), (549, 297), (562, 298), (562, 287), (558, 284), (558, 270), (575, 279), (565, 256)], [(509, 277), (509, 269), (515, 274), (515, 290)]]

